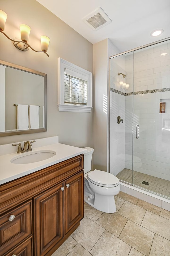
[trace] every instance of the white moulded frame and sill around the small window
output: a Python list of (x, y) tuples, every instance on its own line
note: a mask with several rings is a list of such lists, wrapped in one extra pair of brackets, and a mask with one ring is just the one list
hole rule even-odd
[[(87, 81), (87, 106), (64, 103), (64, 70), (70, 75)], [(92, 109), (92, 73), (74, 65), (65, 59), (58, 58), (58, 110), (66, 112), (91, 112)]]

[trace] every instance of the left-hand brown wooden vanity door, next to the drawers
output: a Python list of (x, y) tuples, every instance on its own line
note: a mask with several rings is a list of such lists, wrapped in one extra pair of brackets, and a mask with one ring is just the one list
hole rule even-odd
[(35, 255), (43, 256), (63, 237), (63, 183), (34, 197)]

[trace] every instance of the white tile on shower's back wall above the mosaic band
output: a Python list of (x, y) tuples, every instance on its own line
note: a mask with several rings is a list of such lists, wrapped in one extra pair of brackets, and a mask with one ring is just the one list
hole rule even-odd
[[(162, 55), (161, 54), (165, 54)], [(127, 92), (133, 91), (133, 53), (126, 58)], [(134, 51), (134, 91), (160, 89), (169, 86), (170, 42), (159, 43)]]

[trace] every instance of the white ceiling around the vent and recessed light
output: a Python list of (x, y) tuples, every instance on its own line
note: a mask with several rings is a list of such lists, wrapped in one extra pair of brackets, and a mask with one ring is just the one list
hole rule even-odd
[[(37, 0), (91, 43), (109, 38), (120, 52), (170, 37), (170, 0)], [(112, 20), (94, 31), (82, 18), (101, 7)], [(164, 33), (151, 37), (150, 33)]]

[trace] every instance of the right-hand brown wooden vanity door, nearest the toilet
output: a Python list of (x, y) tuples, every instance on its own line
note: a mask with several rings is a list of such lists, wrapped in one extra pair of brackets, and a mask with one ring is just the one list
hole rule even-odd
[(64, 234), (84, 217), (84, 172), (64, 182)]

